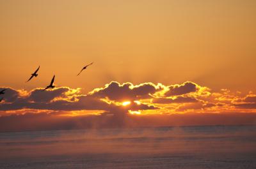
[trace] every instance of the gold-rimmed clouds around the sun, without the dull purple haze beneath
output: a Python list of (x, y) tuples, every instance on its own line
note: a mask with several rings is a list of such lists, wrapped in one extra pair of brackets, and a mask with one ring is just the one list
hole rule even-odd
[[(131, 111), (140, 111), (142, 114), (175, 114), (188, 111), (228, 112), (244, 109), (246, 112), (252, 112), (256, 110), (256, 95), (253, 93), (244, 97), (239, 92), (233, 93), (227, 89), (211, 92), (208, 87), (202, 87), (194, 82), (173, 85), (151, 82), (138, 85), (130, 82), (124, 84), (110, 82), (88, 93), (81, 93), (80, 88), (70, 87), (56, 87), (49, 91), (42, 89), (24, 91), (8, 87), (3, 97), (0, 103), (1, 115), (8, 115), (4, 112), (25, 109), (61, 111), (65, 114), (72, 111), (95, 110), (96, 114), (105, 112), (113, 115), (127, 115)], [(124, 101), (129, 101), (129, 104), (123, 105)]]

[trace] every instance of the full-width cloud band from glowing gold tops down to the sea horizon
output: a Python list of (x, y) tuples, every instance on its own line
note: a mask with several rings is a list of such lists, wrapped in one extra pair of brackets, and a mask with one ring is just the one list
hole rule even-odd
[[(227, 89), (211, 92), (208, 87), (194, 82), (173, 85), (110, 82), (88, 93), (70, 87), (44, 92), (42, 89), (25, 91), (0, 87), (6, 88), (6, 93), (1, 95), (4, 99), (0, 103), (0, 131), (194, 124), (190, 121), (219, 124), (221, 117), (230, 119), (232, 116), (209, 114), (230, 112), (247, 114), (246, 117), (241, 115), (244, 118), (241, 124), (253, 124), (255, 120), (248, 114), (256, 114), (256, 95), (252, 92), (247, 96)], [(175, 116), (168, 116), (170, 114)], [(203, 115), (190, 117), (191, 114)], [(197, 117), (201, 120), (193, 119)], [(211, 122), (210, 117), (218, 121)], [(240, 124), (239, 117), (237, 115), (234, 121), (226, 119), (226, 122)]]

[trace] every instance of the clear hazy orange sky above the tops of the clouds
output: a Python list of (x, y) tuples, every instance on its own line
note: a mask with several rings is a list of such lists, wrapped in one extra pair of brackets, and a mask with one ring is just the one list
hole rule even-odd
[(57, 85), (85, 91), (111, 80), (255, 91), (255, 9), (244, 0), (0, 1), (1, 86), (44, 87), (56, 74)]

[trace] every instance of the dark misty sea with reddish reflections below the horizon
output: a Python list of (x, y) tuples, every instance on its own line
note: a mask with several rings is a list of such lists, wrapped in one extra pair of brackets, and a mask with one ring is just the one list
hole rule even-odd
[(0, 133), (0, 168), (256, 168), (256, 126)]

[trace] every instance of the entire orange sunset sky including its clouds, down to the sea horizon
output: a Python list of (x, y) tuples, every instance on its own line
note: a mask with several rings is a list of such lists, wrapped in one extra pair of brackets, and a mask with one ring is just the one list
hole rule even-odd
[[(0, 130), (19, 118), (79, 128), (88, 115), (99, 126), (217, 124), (208, 114), (255, 124), (255, 8), (250, 0), (0, 1)], [(56, 88), (40, 92), (53, 75)]]

